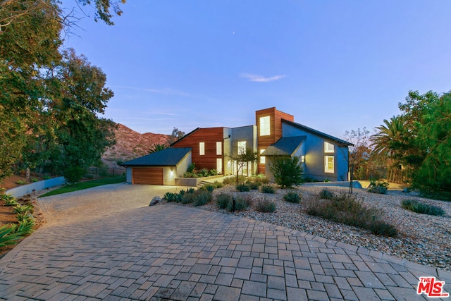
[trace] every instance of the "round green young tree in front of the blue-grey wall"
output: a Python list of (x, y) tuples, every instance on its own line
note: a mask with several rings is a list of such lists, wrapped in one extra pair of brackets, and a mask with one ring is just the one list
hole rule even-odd
[(275, 156), (271, 159), (271, 173), (280, 188), (298, 185), (302, 180), (302, 166), (298, 156)]

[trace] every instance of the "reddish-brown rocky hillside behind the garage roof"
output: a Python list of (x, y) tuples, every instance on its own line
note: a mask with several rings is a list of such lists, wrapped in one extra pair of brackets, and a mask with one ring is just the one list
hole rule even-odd
[(116, 145), (107, 149), (102, 156), (102, 161), (109, 167), (118, 167), (118, 161), (128, 161), (138, 156), (149, 154), (149, 149), (154, 144), (167, 144), (171, 135), (138, 133), (131, 128), (118, 124), (115, 130)]

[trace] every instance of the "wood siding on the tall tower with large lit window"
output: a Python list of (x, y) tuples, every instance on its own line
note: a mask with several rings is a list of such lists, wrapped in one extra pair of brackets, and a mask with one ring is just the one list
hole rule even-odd
[[(260, 136), (260, 117), (269, 116), (270, 118), (270, 134), (267, 136)], [(258, 143), (258, 152), (260, 153), (260, 149), (266, 149), (268, 146), (273, 145), (277, 142), (277, 140), (282, 137), (282, 119), (288, 121), (295, 121), (295, 117), (284, 113), (282, 111), (278, 111), (275, 107), (264, 109), (255, 112), (255, 124), (257, 124), (257, 143)], [(261, 164), (259, 160), (258, 173), (265, 173), (265, 164)]]

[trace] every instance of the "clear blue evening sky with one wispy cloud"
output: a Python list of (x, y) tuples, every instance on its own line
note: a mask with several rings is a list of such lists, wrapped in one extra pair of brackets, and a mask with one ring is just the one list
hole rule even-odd
[(128, 0), (121, 7), (113, 26), (76, 7), (81, 20), (65, 47), (106, 73), (115, 96), (104, 117), (140, 133), (251, 125), (254, 111), (276, 106), (342, 137), (400, 113), (409, 90), (451, 90), (451, 1)]

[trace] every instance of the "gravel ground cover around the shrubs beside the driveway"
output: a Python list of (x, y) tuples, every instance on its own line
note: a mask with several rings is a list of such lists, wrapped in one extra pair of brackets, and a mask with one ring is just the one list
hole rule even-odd
[[(397, 238), (388, 238), (373, 235), (354, 226), (335, 223), (316, 216), (304, 213), (302, 199), (308, 199), (319, 195), (325, 187), (300, 186), (295, 188), (301, 197), (299, 204), (292, 204), (283, 199), (283, 195), (289, 190), (276, 191), (276, 194), (263, 194), (258, 190), (250, 192), (237, 192), (234, 186), (214, 190), (214, 195), (225, 192), (230, 195), (251, 195), (253, 202), (259, 199), (271, 199), (276, 202), (276, 212), (260, 213), (253, 207), (246, 211), (235, 212), (237, 216), (265, 221), (276, 225), (304, 231), (321, 238), (345, 242), (350, 245), (366, 247), (369, 250), (377, 250), (386, 254), (407, 259), (412, 262), (435, 266), (451, 271), (451, 202), (442, 202), (433, 199), (425, 199), (402, 192), (389, 192), (388, 195), (378, 195), (366, 192), (364, 189), (354, 189), (354, 195), (364, 204), (380, 209), (383, 219), (392, 223), (398, 230)], [(347, 188), (328, 187), (335, 193), (347, 193)], [(446, 211), (445, 216), (429, 216), (417, 214), (401, 207), (402, 199), (417, 199), (429, 204), (435, 204)], [(198, 207), (209, 211), (218, 211), (230, 214), (225, 209), (218, 209), (215, 202)]]

